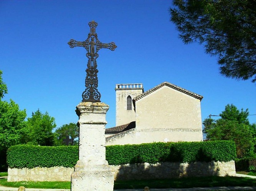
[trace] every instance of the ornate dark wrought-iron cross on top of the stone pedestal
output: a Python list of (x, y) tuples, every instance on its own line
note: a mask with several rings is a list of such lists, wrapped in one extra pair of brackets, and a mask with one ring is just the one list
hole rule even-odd
[(97, 77), (97, 62), (96, 58), (99, 57), (98, 51), (101, 48), (110, 49), (114, 51), (116, 45), (114, 42), (105, 44), (98, 40), (96, 33), (97, 23), (91, 21), (88, 23), (90, 26), (90, 32), (88, 38), (79, 42), (76, 40), (69, 40), (68, 45), (70, 48), (74, 47), (84, 47), (87, 50), (86, 57), (88, 58), (87, 69), (86, 69), (86, 78), (85, 78), (85, 91), (82, 93), (83, 102), (100, 102), (101, 94), (99, 93), (98, 87), (98, 77)]

